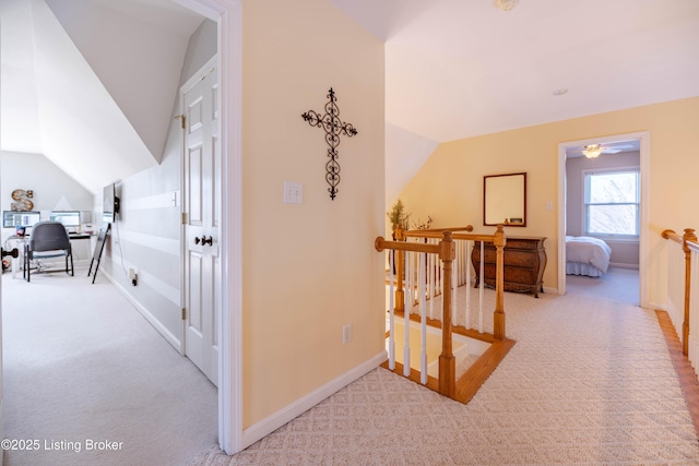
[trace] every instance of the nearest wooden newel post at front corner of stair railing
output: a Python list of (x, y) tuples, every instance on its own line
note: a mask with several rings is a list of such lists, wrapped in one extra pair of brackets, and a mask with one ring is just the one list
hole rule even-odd
[(441, 355), (439, 355), (439, 393), (453, 397), (457, 383), (457, 361), (451, 345), (451, 265), (457, 256), (457, 247), (451, 231), (445, 231), (439, 243), (439, 259), (443, 263), (443, 292), (441, 318)]

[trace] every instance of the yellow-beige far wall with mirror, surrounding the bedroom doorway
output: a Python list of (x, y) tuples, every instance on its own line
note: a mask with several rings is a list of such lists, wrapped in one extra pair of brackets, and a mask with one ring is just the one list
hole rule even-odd
[[(682, 99), (441, 144), (401, 194), (413, 215), (431, 215), (435, 226), (483, 227), (483, 176), (528, 172), (526, 227), (509, 235), (545, 236), (544, 286), (557, 287), (558, 144), (614, 134), (650, 132), (649, 299), (664, 304), (665, 228), (699, 227), (699, 97)], [(554, 208), (546, 210), (552, 201)]]

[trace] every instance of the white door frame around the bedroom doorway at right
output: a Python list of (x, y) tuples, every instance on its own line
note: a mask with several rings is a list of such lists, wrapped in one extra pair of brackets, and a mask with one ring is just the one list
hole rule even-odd
[(648, 235), (650, 232), (650, 175), (651, 142), (650, 132), (616, 134), (613, 136), (585, 139), (558, 144), (558, 295), (566, 294), (566, 150), (587, 144), (604, 144), (618, 141), (640, 140), (641, 164), (641, 212), (639, 230), (639, 304), (648, 308)]

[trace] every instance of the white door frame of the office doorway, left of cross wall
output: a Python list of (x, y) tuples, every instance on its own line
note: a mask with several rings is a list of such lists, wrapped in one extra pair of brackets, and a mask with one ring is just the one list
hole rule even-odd
[(242, 450), (242, 5), (241, 0), (175, 0), (218, 25), (221, 84), (222, 320), (218, 326), (218, 445)]

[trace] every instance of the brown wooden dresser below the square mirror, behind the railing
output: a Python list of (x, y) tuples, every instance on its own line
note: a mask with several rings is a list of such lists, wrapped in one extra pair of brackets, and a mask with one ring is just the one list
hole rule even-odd
[[(529, 291), (538, 298), (544, 291), (544, 268), (546, 268), (546, 237), (507, 237), (505, 244), (505, 290)], [(485, 284), (495, 287), (496, 250), (491, 242), (484, 243)], [(476, 272), (476, 287), (481, 283), (481, 241), (475, 241), (471, 252), (471, 262)]]

